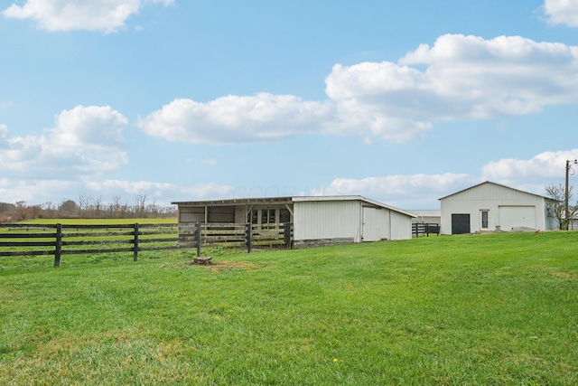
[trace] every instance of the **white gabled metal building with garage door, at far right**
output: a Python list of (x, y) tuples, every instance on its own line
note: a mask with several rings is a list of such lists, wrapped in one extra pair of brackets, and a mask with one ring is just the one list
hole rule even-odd
[(550, 198), (505, 185), (485, 182), (440, 199), (442, 234), (477, 231), (511, 231), (515, 228), (552, 230), (548, 217)]

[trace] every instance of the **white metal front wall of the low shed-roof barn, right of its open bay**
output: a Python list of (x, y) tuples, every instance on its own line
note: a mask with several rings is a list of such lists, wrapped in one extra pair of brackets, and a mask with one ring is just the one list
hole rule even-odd
[(294, 202), (294, 240), (353, 238), (361, 230), (359, 201)]

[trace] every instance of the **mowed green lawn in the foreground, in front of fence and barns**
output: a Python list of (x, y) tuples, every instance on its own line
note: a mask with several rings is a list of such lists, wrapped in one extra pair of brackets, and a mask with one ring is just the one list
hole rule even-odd
[(0, 259), (0, 384), (578, 384), (578, 233)]

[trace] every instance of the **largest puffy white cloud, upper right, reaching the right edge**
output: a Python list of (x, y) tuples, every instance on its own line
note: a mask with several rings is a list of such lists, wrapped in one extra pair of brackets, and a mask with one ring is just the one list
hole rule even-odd
[(345, 126), (408, 140), (434, 121), (521, 116), (578, 101), (577, 75), (578, 47), (448, 34), (399, 64), (336, 65), (326, 91)]

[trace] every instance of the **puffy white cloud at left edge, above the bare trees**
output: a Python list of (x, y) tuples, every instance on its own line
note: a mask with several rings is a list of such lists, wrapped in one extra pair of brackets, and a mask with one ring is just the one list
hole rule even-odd
[(117, 170), (127, 163), (126, 118), (106, 106), (77, 106), (55, 117), (42, 136), (10, 137), (0, 127), (0, 168), (5, 176), (70, 179)]

